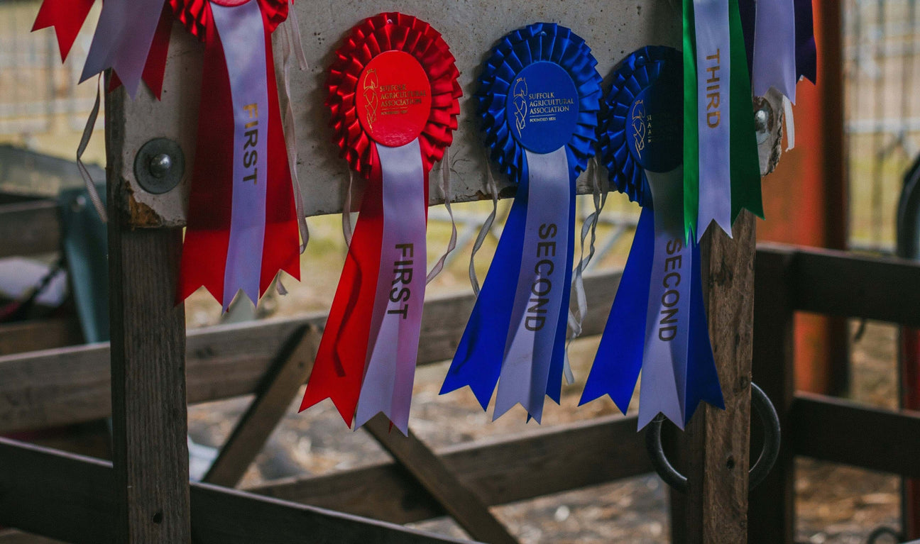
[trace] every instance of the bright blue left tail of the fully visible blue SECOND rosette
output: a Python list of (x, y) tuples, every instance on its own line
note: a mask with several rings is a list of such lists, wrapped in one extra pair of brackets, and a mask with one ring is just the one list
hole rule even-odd
[(483, 282), (473, 313), (460, 338), (441, 393), (469, 386), (483, 410), (489, 407), (499, 382), (514, 305), (513, 286), (521, 271), (523, 230), (527, 219), (527, 187), (518, 187), (495, 257)]

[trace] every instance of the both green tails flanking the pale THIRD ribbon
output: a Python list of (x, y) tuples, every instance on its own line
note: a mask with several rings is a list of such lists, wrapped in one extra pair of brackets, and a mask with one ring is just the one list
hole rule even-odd
[[(760, 190), (760, 158), (753, 123), (751, 80), (744, 50), (738, 0), (729, 0), (731, 37), (730, 118), (731, 221), (741, 210), (764, 217)], [(684, 0), (684, 236), (696, 239), (699, 209), (699, 133), (697, 132), (696, 30), (693, 0)]]

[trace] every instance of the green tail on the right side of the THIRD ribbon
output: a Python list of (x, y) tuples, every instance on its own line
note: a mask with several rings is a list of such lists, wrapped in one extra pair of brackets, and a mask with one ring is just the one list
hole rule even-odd
[(757, 132), (753, 123), (751, 79), (747, 52), (744, 50), (742, 17), (738, 0), (729, 1), (731, 36), (730, 100), (731, 112), (731, 222), (742, 209), (751, 210), (764, 219), (764, 201), (760, 192), (760, 157)]

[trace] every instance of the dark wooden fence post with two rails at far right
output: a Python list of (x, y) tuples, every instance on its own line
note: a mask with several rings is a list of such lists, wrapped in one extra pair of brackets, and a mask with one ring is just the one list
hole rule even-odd
[(783, 429), (779, 459), (751, 496), (748, 541), (793, 542), (796, 456), (902, 475), (920, 471), (920, 413), (796, 393), (795, 312), (920, 324), (920, 264), (777, 244), (758, 247), (753, 380)]

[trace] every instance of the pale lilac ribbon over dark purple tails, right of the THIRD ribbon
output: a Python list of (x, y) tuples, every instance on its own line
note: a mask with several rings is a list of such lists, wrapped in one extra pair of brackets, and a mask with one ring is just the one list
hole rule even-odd
[(771, 86), (796, 103), (796, 10), (794, 0), (757, 0), (753, 35), (755, 96)]

